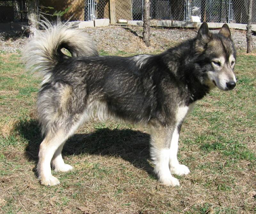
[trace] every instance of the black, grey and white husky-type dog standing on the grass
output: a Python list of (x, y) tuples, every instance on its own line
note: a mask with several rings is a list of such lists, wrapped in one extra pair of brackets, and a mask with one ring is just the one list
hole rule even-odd
[(44, 136), (37, 164), (41, 184), (60, 183), (51, 165), (61, 172), (73, 169), (62, 159), (63, 145), (96, 114), (148, 124), (154, 172), (162, 184), (179, 186), (172, 175), (190, 172), (177, 159), (182, 122), (210, 90), (236, 86), (228, 25), (212, 33), (204, 22), (195, 38), (157, 55), (132, 57), (99, 56), (92, 38), (68, 23), (40, 25), (43, 30), (26, 44), (23, 59), (27, 69), (43, 76), (36, 103)]

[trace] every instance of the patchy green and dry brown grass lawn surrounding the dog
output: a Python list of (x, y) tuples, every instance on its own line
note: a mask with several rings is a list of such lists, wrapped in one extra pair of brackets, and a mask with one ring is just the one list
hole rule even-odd
[(53, 172), (59, 186), (40, 185), (41, 81), (20, 57), (0, 52), (0, 213), (256, 213), (255, 55), (239, 52), (236, 88), (215, 89), (185, 121), (179, 160), (191, 173), (175, 176), (179, 187), (157, 182), (148, 128), (112, 120), (84, 124), (63, 150), (75, 169)]

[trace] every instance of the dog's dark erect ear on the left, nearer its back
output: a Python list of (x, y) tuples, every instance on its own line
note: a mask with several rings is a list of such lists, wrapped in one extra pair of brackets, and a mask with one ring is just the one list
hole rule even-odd
[(206, 22), (203, 22), (198, 30), (196, 41), (196, 52), (203, 52), (207, 43), (211, 40), (211, 33)]

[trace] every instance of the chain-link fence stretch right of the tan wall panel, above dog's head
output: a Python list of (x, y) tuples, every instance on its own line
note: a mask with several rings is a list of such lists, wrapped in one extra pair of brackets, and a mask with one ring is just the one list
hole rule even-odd
[[(151, 19), (247, 23), (248, 0), (150, 0), (150, 3)], [(143, 0), (132, 0), (133, 20), (143, 19), (142, 4)], [(256, 0), (252, 14), (252, 22), (256, 23)]]

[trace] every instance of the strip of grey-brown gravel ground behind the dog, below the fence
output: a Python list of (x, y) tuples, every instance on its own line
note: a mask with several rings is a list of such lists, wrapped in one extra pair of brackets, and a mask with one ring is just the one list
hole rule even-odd
[[(84, 31), (92, 35), (98, 50), (105, 54), (123, 55), (132, 53), (154, 53), (163, 51), (185, 39), (196, 36), (195, 29), (151, 28), (151, 47), (142, 42), (142, 28), (137, 26), (110, 26), (102, 28), (86, 28)], [(245, 31), (231, 30), (237, 49), (246, 48)], [(256, 36), (253, 37), (253, 49), (256, 48)], [(0, 51), (22, 51), (28, 38), (21, 32), (0, 32)]]

